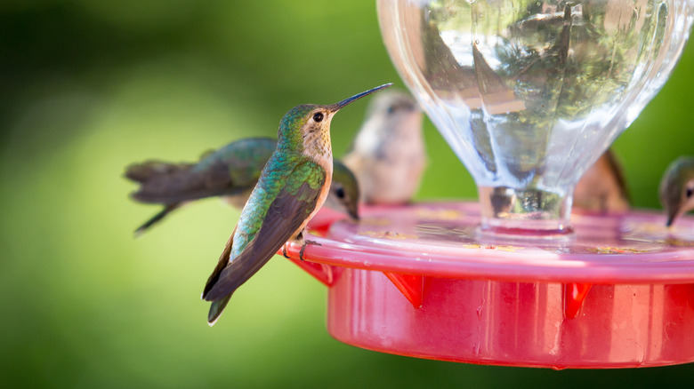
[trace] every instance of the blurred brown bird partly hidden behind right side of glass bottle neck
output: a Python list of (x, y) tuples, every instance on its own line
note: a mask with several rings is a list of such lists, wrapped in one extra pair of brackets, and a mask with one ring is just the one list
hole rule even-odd
[(574, 206), (593, 212), (625, 212), (630, 208), (622, 167), (611, 149), (585, 171), (574, 189)]

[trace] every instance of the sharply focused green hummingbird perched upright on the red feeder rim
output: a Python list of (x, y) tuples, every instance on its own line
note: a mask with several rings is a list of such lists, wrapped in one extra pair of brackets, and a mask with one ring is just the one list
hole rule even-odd
[[(326, 201), (333, 176), (330, 122), (344, 106), (386, 83), (331, 105), (303, 104), (290, 109), (279, 123), (278, 145), (262, 169), (241, 210), (202, 298), (210, 301), (207, 322), (214, 325), (231, 295), (286, 242), (317, 244), (304, 239), (303, 228)], [(286, 250), (283, 250), (286, 255)]]

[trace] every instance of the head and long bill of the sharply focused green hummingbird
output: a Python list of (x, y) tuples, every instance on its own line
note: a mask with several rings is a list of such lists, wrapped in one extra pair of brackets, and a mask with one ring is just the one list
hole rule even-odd
[(278, 147), (288, 147), (314, 159), (332, 158), (330, 122), (337, 111), (391, 85), (392, 83), (386, 83), (327, 106), (303, 104), (290, 109), (279, 123)]

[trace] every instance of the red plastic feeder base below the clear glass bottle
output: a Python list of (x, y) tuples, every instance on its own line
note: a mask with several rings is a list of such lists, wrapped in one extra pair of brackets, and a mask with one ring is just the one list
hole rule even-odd
[[(294, 259), (329, 286), (338, 340), (553, 369), (694, 361), (692, 218), (668, 230), (650, 211), (573, 215), (571, 239), (494, 241), (477, 234), (472, 202), (361, 214), (355, 223), (319, 212), (310, 226), (327, 234)], [(293, 258), (299, 249), (288, 245)]]

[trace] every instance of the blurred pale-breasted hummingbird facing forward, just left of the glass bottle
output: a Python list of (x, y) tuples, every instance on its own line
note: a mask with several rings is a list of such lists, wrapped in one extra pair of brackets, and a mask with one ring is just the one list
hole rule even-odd
[(402, 91), (376, 95), (343, 163), (357, 176), (364, 202), (409, 202), (426, 163), (416, 101)]

